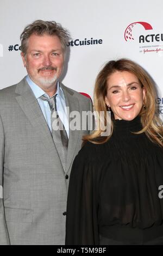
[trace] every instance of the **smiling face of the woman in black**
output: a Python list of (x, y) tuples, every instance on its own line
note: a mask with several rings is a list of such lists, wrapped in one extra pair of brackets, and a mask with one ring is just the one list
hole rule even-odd
[(116, 71), (109, 76), (105, 103), (115, 119), (133, 120), (139, 115), (146, 91), (138, 78), (128, 71)]

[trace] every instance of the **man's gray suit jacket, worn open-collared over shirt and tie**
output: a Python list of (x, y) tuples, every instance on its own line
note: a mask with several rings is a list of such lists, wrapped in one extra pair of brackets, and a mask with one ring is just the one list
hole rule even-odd
[[(92, 111), (90, 99), (61, 87), (70, 111)], [(64, 172), (26, 79), (0, 91), (0, 245), (64, 244), (66, 174), (87, 133), (70, 130)]]

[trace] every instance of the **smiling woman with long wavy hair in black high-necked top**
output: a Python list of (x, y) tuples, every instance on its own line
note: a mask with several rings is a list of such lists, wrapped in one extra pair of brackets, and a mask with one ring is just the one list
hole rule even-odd
[(74, 160), (66, 245), (163, 245), (162, 122), (155, 97), (151, 78), (131, 60), (110, 61), (99, 72), (95, 109), (110, 109), (111, 133), (102, 136), (99, 125)]

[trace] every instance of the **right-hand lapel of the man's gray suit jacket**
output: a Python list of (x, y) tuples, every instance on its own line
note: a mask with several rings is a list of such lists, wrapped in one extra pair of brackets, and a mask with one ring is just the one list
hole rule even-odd
[[(79, 111), (79, 101), (77, 97), (73, 95), (74, 93), (72, 92), (72, 90), (69, 90), (67, 87), (63, 86), (63, 84), (60, 84), (60, 86), (64, 92), (65, 99), (66, 99), (66, 107), (69, 107), (69, 112), (71, 113), (72, 111)], [(68, 118), (69, 118), (69, 141), (68, 141), (67, 163), (66, 163), (66, 171), (65, 171), (66, 173), (70, 169), (70, 166), (74, 157), (74, 153), (76, 150), (76, 146), (77, 146), (78, 135), (79, 135), (78, 130), (72, 131), (70, 129), (70, 122), (71, 122), (70, 114), (68, 115)]]

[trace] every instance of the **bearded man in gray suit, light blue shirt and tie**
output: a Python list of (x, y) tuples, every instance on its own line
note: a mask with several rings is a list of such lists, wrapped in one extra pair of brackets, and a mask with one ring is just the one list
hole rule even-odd
[(66, 109), (92, 111), (90, 99), (58, 80), (68, 40), (53, 21), (28, 25), (21, 34), (28, 75), (0, 92), (0, 245), (65, 242), (68, 180), (88, 133), (70, 129)]

